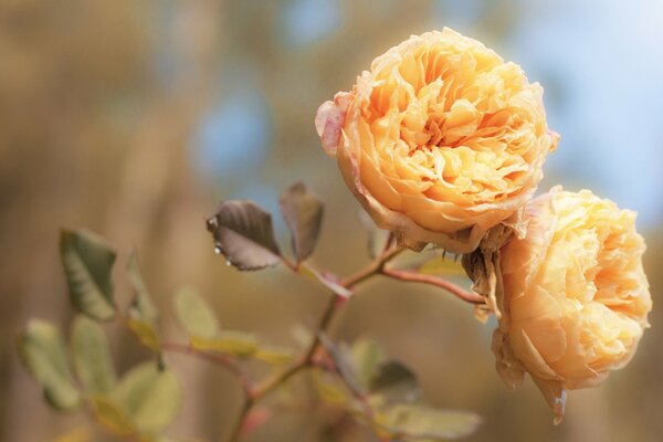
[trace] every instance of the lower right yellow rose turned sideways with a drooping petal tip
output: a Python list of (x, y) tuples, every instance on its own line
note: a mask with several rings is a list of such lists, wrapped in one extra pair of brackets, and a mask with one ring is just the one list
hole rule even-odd
[(633, 356), (652, 308), (635, 213), (588, 190), (554, 188), (527, 206), (527, 234), (499, 251), (497, 370), (529, 372), (556, 413), (566, 390), (593, 387)]

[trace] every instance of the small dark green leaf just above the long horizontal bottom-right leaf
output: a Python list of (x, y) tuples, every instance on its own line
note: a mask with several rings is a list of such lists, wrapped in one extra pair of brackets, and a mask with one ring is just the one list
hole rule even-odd
[(397, 360), (380, 364), (368, 389), (387, 401), (412, 401), (420, 394), (417, 376)]

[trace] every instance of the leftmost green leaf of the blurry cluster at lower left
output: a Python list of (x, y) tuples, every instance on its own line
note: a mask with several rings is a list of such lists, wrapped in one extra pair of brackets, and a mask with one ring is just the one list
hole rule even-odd
[(57, 327), (44, 320), (31, 319), (19, 335), (18, 347), (23, 366), (40, 383), (48, 402), (61, 411), (76, 409), (81, 403), (81, 394), (72, 382)]

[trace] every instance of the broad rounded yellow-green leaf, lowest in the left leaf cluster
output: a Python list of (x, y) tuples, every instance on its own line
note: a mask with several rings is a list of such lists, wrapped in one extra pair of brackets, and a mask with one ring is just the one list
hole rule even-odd
[(157, 432), (170, 423), (181, 402), (179, 382), (172, 372), (145, 362), (128, 371), (112, 399), (139, 432)]

